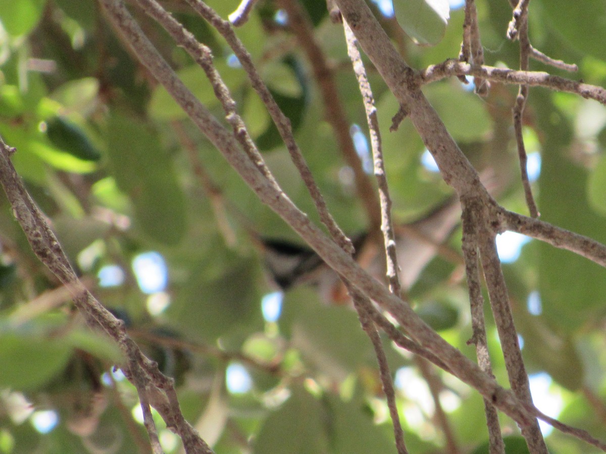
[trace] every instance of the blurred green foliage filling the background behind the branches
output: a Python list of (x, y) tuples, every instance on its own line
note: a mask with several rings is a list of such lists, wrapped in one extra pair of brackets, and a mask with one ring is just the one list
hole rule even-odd
[[(604, 86), (606, 1), (583, 3), (536, 0), (530, 10), (534, 47), (578, 64), (579, 74), (534, 61), (531, 69)], [(176, 4), (176, 18), (213, 50), (216, 67), (276, 179), (317, 222), (285, 146), (230, 48), (182, 2), (171, 2)], [(237, 2), (208, 4), (226, 18)], [(348, 122), (367, 136), (342, 30), (331, 24), (324, 1), (302, 4), (334, 68)], [(451, 10), (445, 24), (429, 4), (398, 0), (402, 28), (382, 18), (407, 61), (419, 69), (456, 58), (461, 44), (462, 10)], [(516, 68), (518, 45), (505, 39), (511, 19), (507, 2), (476, 4), (486, 64)], [(415, 5), (422, 10), (412, 21), (405, 8)], [(293, 35), (275, 20), (276, 13), (274, 2), (261, 1), (238, 36), (290, 117), (335, 219), (348, 234), (358, 234), (368, 220), (350, 169), (325, 120), (309, 62)], [(138, 11), (136, 17), (190, 90), (222, 119), (203, 71), (151, 19)], [(18, 150), (12, 159), (19, 175), (95, 295), (127, 320), (151, 358), (178, 379), (185, 415), (216, 452), (243, 452), (244, 447), (258, 453), (393, 449), (373, 348), (355, 313), (328, 305), (304, 285), (286, 292), (277, 322), (264, 320), (261, 298), (275, 288), (263, 266), (259, 238), (300, 240), (125, 50), (98, 5), (0, 1), (0, 22), (0, 135)], [(417, 46), (402, 29), (435, 47)], [(422, 165), (424, 146), (408, 120), (395, 133), (388, 131), (398, 105), (370, 64), (368, 71), (396, 222), (414, 222), (451, 192)], [(493, 84), (485, 99), (467, 88), (453, 78), (424, 92), (471, 162), (497, 181), (499, 202), (525, 212), (511, 128), (517, 87)], [(533, 183), (542, 219), (606, 242), (606, 108), (536, 88), (525, 130), (528, 150), (542, 157), (541, 176)], [(447, 246), (459, 251), (460, 239), (455, 230)], [(0, 245), (0, 452), (144, 450), (142, 424), (130, 415), (138, 406), (136, 392), (119, 374), (110, 373), (118, 361), (115, 349), (84, 329), (65, 295), (53, 291), (58, 283), (30, 251), (4, 197)], [(149, 251), (159, 252), (168, 270), (166, 288), (151, 295), (138, 285), (132, 268), (133, 258)], [(121, 278), (96, 285), (108, 266), (119, 269)], [(562, 421), (605, 438), (600, 415), (606, 399), (606, 272), (585, 258), (531, 241), (516, 262), (505, 265), (505, 275), (528, 370), (548, 374), (552, 395), (561, 401)], [(541, 314), (528, 311), (532, 292), (541, 297)], [(474, 357), (466, 344), (471, 326), (460, 261), (451, 255), (431, 260), (410, 297), (427, 323)], [(505, 384), (490, 317), (487, 324), (494, 373)], [(387, 341), (385, 347), (392, 372), (413, 370), (410, 355)], [(248, 372), (251, 384), (244, 392), (225, 385), (225, 370), (232, 363)], [(441, 377), (455, 438), (464, 452), (488, 452), (481, 399), (458, 381)], [(416, 392), (414, 380), (399, 386), (410, 451), (444, 452), (428, 392)], [(48, 433), (33, 429), (34, 410), (55, 411), (57, 426)], [(519, 435), (515, 424), (501, 418), (505, 433)], [(166, 452), (178, 452), (175, 436), (160, 427)], [(508, 453), (527, 452), (518, 435), (507, 438)], [(557, 431), (547, 442), (554, 453), (593, 452)]]

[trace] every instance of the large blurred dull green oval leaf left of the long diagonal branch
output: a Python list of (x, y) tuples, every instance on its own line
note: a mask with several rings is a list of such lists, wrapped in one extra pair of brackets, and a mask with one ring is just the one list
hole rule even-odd
[(118, 187), (128, 192), (145, 234), (176, 245), (185, 234), (185, 197), (173, 165), (155, 130), (113, 113), (108, 121), (107, 152)]

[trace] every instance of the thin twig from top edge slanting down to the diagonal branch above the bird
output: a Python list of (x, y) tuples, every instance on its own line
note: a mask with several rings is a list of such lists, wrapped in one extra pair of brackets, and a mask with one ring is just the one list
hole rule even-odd
[[(265, 83), (262, 81), (261, 75), (252, 62), (250, 54), (239, 40), (238, 36), (236, 36), (234, 33), (230, 23), (222, 19), (221, 16), (215, 12), (215, 10), (208, 7), (208, 5), (204, 4), (204, 2), (200, 0), (186, 1), (188, 4), (190, 4), (191, 8), (193, 8), (200, 16), (202, 16), (202, 18), (208, 21), (209, 24), (213, 25), (213, 27), (215, 27), (216, 30), (221, 33), (223, 38), (225, 38), (225, 41), (227, 41), (227, 44), (230, 45), (231, 50), (233, 50), (236, 57), (238, 57), (242, 68), (244, 68), (248, 79), (250, 79), (252, 87), (255, 89), (259, 97), (261, 97), (261, 100), (267, 107), (267, 111), (275, 123), (282, 140), (284, 140), (288, 153), (290, 153), (290, 157), (293, 160), (293, 163), (295, 163), (295, 166), (301, 175), (301, 179), (305, 183), (311, 199), (316, 205), (321, 222), (327, 226), (328, 231), (333, 238), (335, 238), (335, 241), (339, 244), (339, 246), (345, 248), (345, 250), (350, 254), (353, 253), (353, 245), (351, 245), (351, 240), (348, 239), (348, 237), (341, 231), (341, 228), (339, 228), (335, 222), (335, 219), (333, 219), (330, 212), (328, 212), (324, 197), (322, 197), (320, 189), (313, 179), (313, 175), (311, 174), (307, 162), (305, 162), (305, 158), (303, 157), (301, 150), (299, 150), (299, 145), (297, 145), (295, 141), (290, 120), (284, 115), (273, 96), (271, 96), (267, 85), (265, 85)], [(177, 38), (175, 38), (175, 40), (177, 41)], [(195, 49), (196, 46), (195, 42), (192, 42), (190, 39), (187, 41), (178, 42), (181, 42), (188, 52), (190, 51), (190, 47), (194, 46), (193, 48)]]

